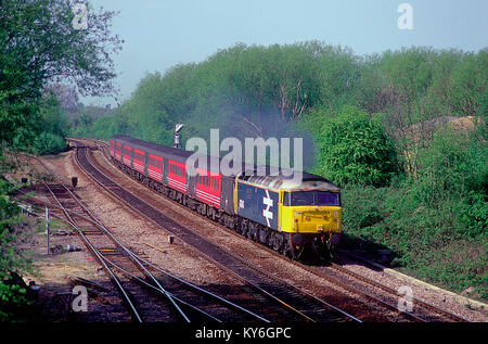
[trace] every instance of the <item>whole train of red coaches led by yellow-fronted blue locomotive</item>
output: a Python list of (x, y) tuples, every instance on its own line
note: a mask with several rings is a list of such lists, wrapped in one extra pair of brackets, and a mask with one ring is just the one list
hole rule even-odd
[[(341, 189), (321, 176), (285, 177), (258, 166), (219, 170), (220, 157), (202, 155), (189, 174), (194, 152), (127, 136), (110, 140), (112, 162), (151, 189), (293, 259), (329, 259), (341, 241)], [(204, 165), (204, 164), (202, 164)], [(217, 166), (217, 168), (215, 167)]]

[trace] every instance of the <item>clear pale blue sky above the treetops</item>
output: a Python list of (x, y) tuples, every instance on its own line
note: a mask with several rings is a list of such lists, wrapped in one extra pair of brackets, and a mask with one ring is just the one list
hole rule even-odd
[[(121, 100), (145, 73), (201, 62), (236, 42), (320, 40), (358, 54), (402, 47), (478, 51), (488, 47), (488, 0), (91, 0), (120, 11), (112, 31), (125, 40), (114, 56)], [(400, 29), (400, 3), (413, 10), (411, 30)], [(86, 104), (114, 104), (81, 99)]]

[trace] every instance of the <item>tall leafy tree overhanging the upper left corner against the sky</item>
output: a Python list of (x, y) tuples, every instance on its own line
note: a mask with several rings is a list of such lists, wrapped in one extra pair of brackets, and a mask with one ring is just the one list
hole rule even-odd
[[(3, 0), (0, 11), (0, 141), (36, 131), (39, 100), (49, 82), (68, 81), (82, 94), (112, 94), (111, 52), (121, 41), (108, 31), (114, 12), (87, 3), (88, 27), (73, 25), (74, 0)], [(17, 139), (18, 140), (18, 139)], [(26, 141), (27, 138), (26, 138)]]

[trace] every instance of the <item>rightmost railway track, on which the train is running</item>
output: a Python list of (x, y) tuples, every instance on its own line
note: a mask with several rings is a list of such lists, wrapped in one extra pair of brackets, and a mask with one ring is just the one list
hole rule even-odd
[[(107, 161), (110, 158), (106, 155), (106, 150), (104, 150), (103, 144), (98, 144), (100, 149), (103, 150), (103, 153)], [(149, 188), (146, 188), (149, 189)], [(151, 190), (151, 189), (149, 189)], [(155, 192), (154, 190), (151, 190)], [(182, 206), (178, 204), (177, 202), (172, 200), (168, 200), (171, 203)], [(208, 218), (195, 214), (195, 216), (198, 216), (201, 218), (205, 218), (206, 220), (209, 220)], [(213, 221), (213, 224), (216, 224)], [(227, 232), (239, 237), (235, 232), (228, 229), (227, 227), (223, 227), (221, 225), (217, 225), (224, 229)], [(258, 246), (257, 244), (251, 242), (253, 245)], [(270, 252), (272, 255), (274, 255), (277, 258), (284, 259), (281, 255), (278, 255), (274, 251), (269, 250), (267, 247), (264, 247), (262, 245), (259, 245), (260, 249), (265, 249), (268, 252)], [(286, 258), (285, 258), (286, 259)], [(436, 307), (434, 305), (431, 305), (428, 303), (425, 303), (419, 298), (410, 297), (409, 301), (412, 303), (413, 307), (412, 309), (402, 309), (400, 310), (398, 307), (398, 301), (401, 295), (398, 294), (397, 290), (394, 290), (387, 285), (384, 285), (377, 281), (371, 280), (367, 277), (363, 277), (357, 272), (354, 272), (339, 264), (332, 264), (330, 267), (310, 267), (308, 265), (304, 265), (299, 262), (291, 260), (292, 264), (295, 264), (299, 266), (300, 268), (306, 269), (307, 271), (326, 279), (331, 283), (334, 283), (351, 293), (362, 295), (363, 297), (367, 297), (368, 300), (382, 305), (385, 308), (390, 309), (391, 311), (396, 311), (399, 317), (409, 319), (410, 321), (416, 321), (416, 322), (432, 322), (432, 321), (454, 321), (454, 322), (467, 322), (468, 320), (459, 317), (446, 309)]]

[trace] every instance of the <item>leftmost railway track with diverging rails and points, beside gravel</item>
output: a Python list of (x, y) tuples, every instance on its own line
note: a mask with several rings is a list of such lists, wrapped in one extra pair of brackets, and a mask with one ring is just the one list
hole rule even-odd
[[(108, 273), (133, 321), (269, 322), (235, 303), (162, 270), (129, 250), (69, 188), (53, 176), (57, 183), (44, 182), (52, 204), (57, 205), (55, 209), (64, 214), (90, 253)], [(76, 215), (81, 213), (86, 216)]]

